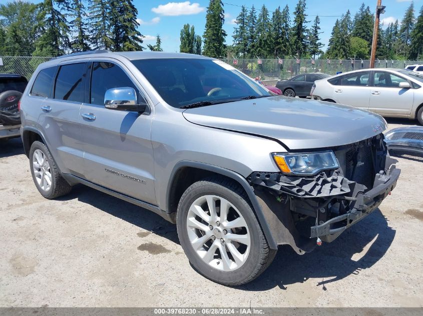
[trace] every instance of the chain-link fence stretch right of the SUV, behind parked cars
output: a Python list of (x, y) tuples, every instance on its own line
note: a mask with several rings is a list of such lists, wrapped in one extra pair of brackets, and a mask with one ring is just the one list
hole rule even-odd
[[(261, 77), (261, 80), (289, 79), (294, 75), (306, 72), (324, 72), (330, 75), (336, 72), (358, 70), (370, 67), (370, 60), (361, 59), (221, 59), (250, 77)], [(410, 64), (421, 64), (422, 61), (410, 60), (376, 60), (376, 68), (405, 68)]]

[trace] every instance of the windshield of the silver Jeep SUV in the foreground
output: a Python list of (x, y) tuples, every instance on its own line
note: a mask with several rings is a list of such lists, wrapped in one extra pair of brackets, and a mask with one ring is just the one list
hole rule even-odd
[(157, 58), (132, 60), (132, 63), (174, 107), (272, 95), (259, 83), (220, 60)]

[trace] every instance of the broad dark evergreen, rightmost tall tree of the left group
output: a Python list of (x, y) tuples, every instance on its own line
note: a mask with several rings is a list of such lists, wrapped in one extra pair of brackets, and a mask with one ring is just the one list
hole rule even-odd
[(143, 35), (138, 31), (138, 10), (132, 0), (111, 1), (111, 28), (115, 51), (143, 50)]

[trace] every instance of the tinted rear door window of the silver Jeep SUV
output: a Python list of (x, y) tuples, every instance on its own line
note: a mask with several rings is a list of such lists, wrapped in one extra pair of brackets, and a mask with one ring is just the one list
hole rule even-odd
[(61, 66), (56, 79), (54, 98), (84, 102), (84, 86), (82, 85), (84, 71), (85, 63)]

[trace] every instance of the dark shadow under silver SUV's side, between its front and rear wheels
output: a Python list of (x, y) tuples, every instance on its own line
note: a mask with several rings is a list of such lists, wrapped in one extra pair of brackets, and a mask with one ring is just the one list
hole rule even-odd
[(115, 198), (82, 184), (76, 185), (70, 194), (57, 200), (67, 201), (78, 199), (110, 215), (120, 218), (139, 228), (167, 238), (179, 245), (176, 225), (169, 223), (152, 211), (136, 206), (132, 203)]

